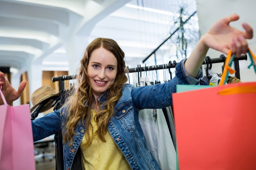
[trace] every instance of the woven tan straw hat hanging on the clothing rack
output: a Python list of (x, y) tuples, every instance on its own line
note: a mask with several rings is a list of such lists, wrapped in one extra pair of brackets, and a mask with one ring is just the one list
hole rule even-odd
[(38, 88), (31, 95), (33, 107), (30, 109), (30, 111), (32, 112), (41, 102), (46, 102), (46, 100), (48, 102), (46, 102), (46, 104), (40, 109), (40, 113), (52, 108), (51, 104), (58, 96), (59, 93), (56, 93), (56, 91), (54, 91), (54, 89), (48, 85)]

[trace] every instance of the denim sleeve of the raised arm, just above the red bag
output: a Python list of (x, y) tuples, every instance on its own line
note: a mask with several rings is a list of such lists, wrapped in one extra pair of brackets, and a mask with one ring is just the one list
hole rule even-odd
[(186, 60), (177, 64), (175, 77), (166, 83), (155, 84), (153, 86), (133, 87), (131, 91), (133, 105), (137, 110), (144, 108), (165, 108), (171, 106), (172, 94), (176, 92), (177, 84), (199, 84), (202, 77), (200, 69), (198, 75), (191, 77), (184, 68)]

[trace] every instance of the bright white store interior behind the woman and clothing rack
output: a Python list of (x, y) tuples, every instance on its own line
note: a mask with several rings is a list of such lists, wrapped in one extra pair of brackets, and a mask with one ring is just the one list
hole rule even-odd
[[(248, 22), (255, 30), (254, 4), (252, 0), (0, 0), (0, 67), (10, 67), (7, 76), (15, 88), (21, 80), (28, 81), (25, 93), (14, 102), (25, 104), (40, 86), (53, 86), (53, 76), (74, 75), (86, 46), (97, 37), (116, 40), (126, 54), (126, 65), (135, 68), (144, 66), (142, 60), (173, 31), (180, 6), (188, 15), (197, 11), (186, 29), (202, 35), (214, 21), (232, 13), (240, 15), (232, 26), (243, 29), (242, 22)], [(173, 38), (157, 51), (157, 64), (181, 60), (175, 56)], [(248, 42), (256, 53), (255, 38)], [(193, 46), (189, 44), (188, 56)], [(207, 53), (211, 58), (220, 54)], [(146, 65), (155, 65), (154, 56)], [(212, 70), (220, 73), (221, 65), (213, 64)], [(249, 60), (240, 61), (242, 82), (256, 80), (248, 65)], [(160, 80), (163, 74), (159, 71)], [(130, 79), (136, 83), (135, 74)], [(58, 91), (57, 83), (54, 88)]]

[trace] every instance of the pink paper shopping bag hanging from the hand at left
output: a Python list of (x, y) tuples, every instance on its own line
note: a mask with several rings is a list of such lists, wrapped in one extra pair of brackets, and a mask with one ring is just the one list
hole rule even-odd
[(0, 170), (35, 170), (29, 105), (9, 106), (0, 93)]

